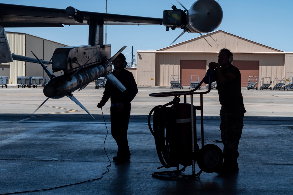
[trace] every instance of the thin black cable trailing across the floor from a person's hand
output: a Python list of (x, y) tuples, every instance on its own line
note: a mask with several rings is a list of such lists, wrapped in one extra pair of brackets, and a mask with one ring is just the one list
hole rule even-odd
[(37, 192), (37, 191), (48, 191), (48, 190), (53, 190), (53, 189), (58, 189), (58, 188), (64, 188), (64, 187), (68, 187), (68, 186), (74, 186), (74, 185), (78, 185), (78, 184), (83, 184), (83, 183), (87, 183), (87, 182), (92, 182), (92, 181), (96, 181), (98, 179), (102, 179), (103, 178), (103, 175), (108, 173), (110, 170), (109, 170), (109, 166), (111, 166), (111, 160), (109, 159), (109, 156), (106, 152), (106, 149), (105, 149), (105, 142), (106, 142), (106, 138), (108, 136), (108, 128), (107, 128), (107, 125), (106, 125), (106, 121), (105, 121), (105, 118), (104, 118), (104, 114), (103, 114), (103, 110), (101, 108), (101, 111), (102, 111), (102, 115), (103, 115), (103, 119), (104, 119), (104, 122), (105, 122), (105, 126), (106, 126), (106, 130), (107, 130), (107, 133), (106, 133), (106, 137), (105, 137), (105, 140), (104, 140), (104, 151), (106, 153), (106, 156), (110, 162), (110, 165), (108, 165), (106, 167), (107, 171), (104, 172), (103, 174), (101, 174), (101, 177), (99, 178), (96, 178), (96, 179), (90, 179), (90, 180), (87, 180), (87, 181), (84, 181), (84, 182), (79, 182), (79, 183), (74, 183), (74, 184), (68, 184), (68, 185), (65, 185), (65, 186), (58, 186), (58, 187), (53, 187), (53, 188), (48, 188), (48, 189), (40, 189), (40, 190), (30, 190), (30, 191), (20, 191), (20, 192), (11, 192), (11, 193), (6, 193), (6, 194), (0, 194), (0, 195), (8, 195), (8, 194), (21, 194), (21, 193), (29, 193), (29, 192)]

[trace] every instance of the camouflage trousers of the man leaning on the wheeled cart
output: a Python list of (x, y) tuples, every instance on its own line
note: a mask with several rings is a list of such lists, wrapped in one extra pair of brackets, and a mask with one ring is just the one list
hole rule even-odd
[(237, 162), (238, 144), (242, 134), (244, 105), (223, 106), (220, 110), (220, 130), (224, 144), (223, 157), (227, 161)]

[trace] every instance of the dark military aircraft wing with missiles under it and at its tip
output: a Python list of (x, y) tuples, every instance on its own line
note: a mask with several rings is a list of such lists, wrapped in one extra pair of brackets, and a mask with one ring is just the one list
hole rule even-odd
[[(182, 6), (184, 8), (184, 6)], [(64, 96), (89, 111), (73, 96), (77, 89), (84, 89), (90, 82), (105, 77), (121, 91), (126, 88), (111, 74), (111, 62), (126, 47), (111, 57), (111, 45), (104, 45), (104, 25), (163, 25), (166, 30), (181, 28), (183, 33), (209, 33), (219, 27), (223, 18), (221, 6), (214, 0), (198, 0), (189, 10), (177, 9), (163, 11), (162, 18), (117, 15), (79, 11), (73, 7), (53, 9), (13, 4), (0, 4), (0, 63), (21, 60), (40, 63), (50, 80), (43, 92), (47, 99), (59, 99)], [(4, 28), (11, 27), (63, 27), (63, 25), (88, 25), (89, 43), (85, 46), (57, 48), (50, 61), (11, 54)], [(48, 64), (52, 64), (52, 72)], [(46, 66), (47, 65), (47, 66)], [(53, 73), (63, 71), (55, 76)], [(40, 106), (42, 106), (41, 104)], [(39, 106), (39, 108), (40, 108)], [(38, 109), (37, 109), (38, 110)], [(89, 113), (91, 115), (91, 113)], [(91, 115), (92, 116), (92, 115)], [(93, 117), (93, 116), (92, 116)]]

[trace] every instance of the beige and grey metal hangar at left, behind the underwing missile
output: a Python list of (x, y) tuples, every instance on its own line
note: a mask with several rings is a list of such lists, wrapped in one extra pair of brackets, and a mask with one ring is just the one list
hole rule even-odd
[[(50, 61), (56, 48), (67, 46), (26, 33), (6, 32), (6, 36), (11, 53), (34, 57), (33, 52), (38, 58), (47, 61)], [(52, 65), (49, 65), (48, 68), (52, 71)], [(57, 76), (61, 72), (54, 74)], [(10, 84), (17, 84), (17, 77), (47, 77), (48, 75), (39, 64), (14, 60), (0, 64), (0, 76), (8, 76)]]

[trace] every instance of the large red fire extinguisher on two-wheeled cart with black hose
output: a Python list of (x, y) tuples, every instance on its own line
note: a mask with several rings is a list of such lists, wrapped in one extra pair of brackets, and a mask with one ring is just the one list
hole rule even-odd
[[(220, 147), (218, 147), (217, 145), (214, 144), (207, 144), (204, 145), (204, 123), (203, 123), (203, 95), (207, 94), (210, 92), (211, 90), (211, 82), (209, 82), (209, 88), (207, 91), (196, 91), (197, 89), (199, 89), (199, 86), (201, 86), (201, 84), (204, 82), (204, 80), (206, 78), (209, 78), (210, 75), (213, 74), (212, 72), (207, 72), (206, 76), (204, 77), (204, 79), (201, 81), (201, 83), (193, 90), (190, 91), (170, 91), (170, 92), (161, 92), (161, 93), (153, 93), (153, 94), (149, 94), (149, 96), (152, 97), (170, 97), (170, 96), (174, 96), (173, 101), (163, 105), (163, 106), (156, 106), (154, 107), (149, 114), (148, 117), (148, 125), (150, 128), (151, 133), (154, 135), (155, 137), (155, 143), (156, 143), (156, 147), (157, 147), (157, 153), (159, 155), (159, 159), (160, 162), (162, 163), (162, 167), (164, 168), (170, 168), (170, 167), (176, 167), (176, 170), (172, 170), (172, 171), (162, 171), (162, 172), (154, 172), (152, 173), (153, 177), (157, 177), (160, 179), (178, 179), (178, 178), (195, 178), (195, 177), (199, 177), (200, 174), (202, 172), (207, 172), (207, 173), (212, 173), (212, 172), (216, 172), (217, 170), (219, 170), (219, 167), (221, 166), (222, 162), (223, 162), (223, 152), (221, 150)], [(211, 81), (211, 79), (209, 79)], [(193, 96), (198, 95), (200, 98), (200, 106), (194, 106), (193, 105)], [(184, 97), (184, 103), (179, 103), (180, 98), (183, 96)], [(187, 96), (190, 96), (190, 104), (187, 104)], [(176, 121), (173, 123), (176, 123), (175, 125), (172, 124), (172, 121), (165, 123), (165, 126), (160, 124), (159, 127), (155, 127), (155, 111), (156, 109), (160, 109), (160, 108), (172, 108), (171, 107), (167, 107), (171, 104), (174, 104), (173, 106), (175, 107), (180, 107), (180, 105), (184, 105), (184, 107), (186, 108), (186, 105), (189, 105), (188, 109), (190, 112), (190, 118), (189, 119), (194, 119), (194, 120), (189, 120), (191, 121), (191, 133), (187, 133), (189, 138), (188, 140), (190, 140), (190, 142), (192, 144), (190, 144), (190, 153), (187, 153), (189, 155), (189, 157), (187, 157), (187, 160), (184, 160), (184, 163), (180, 162), (180, 160), (176, 159), (176, 155), (175, 157), (171, 155), (172, 150), (175, 151), (174, 153), (176, 153), (176, 150), (178, 147), (178, 145), (173, 145), (174, 141), (170, 140), (170, 138), (168, 137), (168, 135), (170, 135), (172, 132), (168, 132), (167, 130), (167, 123), (171, 123), (169, 124), (170, 126), (176, 126), (178, 125), (177, 121), (184, 121), (187, 119), (176, 119)], [(176, 108), (175, 108), (176, 109)], [(197, 141), (197, 131), (196, 131), (196, 113), (195, 110), (199, 110), (200, 111), (200, 120), (201, 120), (201, 148), (199, 148), (199, 145), (197, 145), (196, 141)], [(154, 116), (153, 116), (153, 127), (154, 130), (151, 127), (150, 124), (150, 119), (151, 119), (151, 115), (154, 112)], [(161, 111), (160, 111), (161, 112)], [(168, 115), (168, 113), (170, 113), (170, 111), (166, 112), (166, 115)], [(176, 111), (175, 113), (178, 113), (178, 111)], [(186, 113), (186, 111), (181, 113)], [(164, 115), (164, 114), (163, 114)], [(156, 114), (157, 116), (157, 114)], [(169, 118), (169, 116), (163, 116), (163, 120), (157, 120), (157, 121), (164, 121), (167, 120)], [(184, 117), (183, 117), (184, 118)], [(186, 117), (185, 117), (186, 118)], [(179, 122), (180, 123), (180, 122)], [(168, 128), (169, 128), (168, 127)], [(165, 132), (166, 130), (166, 132)], [(157, 132), (159, 131), (159, 132)], [(174, 132), (180, 132), (183, 131), (183, 129), (176, 129), (176, 131)], [(161, 136), (161, 137), (160, 137)], [(180, 136), (174, 135), (173, 137), (176, 137), (176, 141), (178, 140), (178, 138)], [(184, 142), (181, 142), (184, 143)], [(166, 147), (167, 150), (166, 150)], [(180, 147), (180, 146), (179, 146)], [(186, 148), (186, 147), (185, 147)], [(189, 150), (188, 148), (186, 150)], [(183, 151), (184, 153), (185, 151)], [(177, 151), (178, 154), (181, 154), (182, 151)], [(174, 160), (172, 160), (174, 159)], [(172, 161), (172, 162), (171, 162)], [(182, 160), (181, 160), (182, 161)], [(190, 161), (190, 162), (187, 162)], [(186, 163), (187, 162), (187, 163)], [(197, 162), (197, 165), (200, 168), (200, 171), (198, 173), (195, 173), (195, 162)], [(184, 166), (182, 169), (179, 169), (179, 164)], [(187, 166), (192, 165), (192, 174), (182, 174), (182, 172), (185, 171), (185, 168)], [(162, 168), (159, 167), (158, 169)]]

